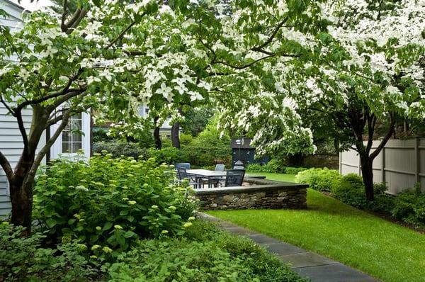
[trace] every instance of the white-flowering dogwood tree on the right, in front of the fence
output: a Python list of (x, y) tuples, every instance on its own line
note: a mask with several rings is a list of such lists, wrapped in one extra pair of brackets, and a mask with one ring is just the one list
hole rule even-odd
[[(305, 37), (318, 55), (303, 64), (288, 65), (285, 58), (264, 64), (274, 89), (263, 86), (263, 93), (246, 98), (239, 125), (254, 130), (254, 140), (273, 152), (298, 149), (286, 144), (294, 135), (312, 136), (314, 124), (303, 124), (300, 113), (312, 123), (328, 123), (341, 149), (358, 152), (365, 197), (373, 201), (373, 159), (392, 136), (396, 118), (425, 118), (425, 1), (329, 1), (321, 11), (332, 22), (329, 32)], [(372, 149), (377, 123), (386, 130)]]

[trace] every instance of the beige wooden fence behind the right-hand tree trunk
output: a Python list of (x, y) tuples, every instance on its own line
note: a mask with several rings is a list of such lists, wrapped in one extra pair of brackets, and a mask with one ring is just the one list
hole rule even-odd
[[(378, 147), (374, 141), (372, 150)], [(339, 154), (339, 172), (361, 175), (358, 153), (348, 150)], [(373, 181), (386, 182), (388, 193), (397, 194), (421, 183), (425, 192), (425, 139), (389, 140), (373, 161)]]

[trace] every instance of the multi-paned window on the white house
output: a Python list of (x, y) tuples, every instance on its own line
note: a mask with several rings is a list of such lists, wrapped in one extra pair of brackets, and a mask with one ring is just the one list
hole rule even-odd
[(81, 113), (69, 118), (69, 122), (64, 131), (62, 131), (62, 152), (77, 153), (83, 147), (81, 137), (82, 128)]

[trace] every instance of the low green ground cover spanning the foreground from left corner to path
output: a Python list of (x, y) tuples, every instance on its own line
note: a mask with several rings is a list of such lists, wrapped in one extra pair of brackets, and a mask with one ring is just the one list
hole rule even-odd
[(194, 220), (183, 237), (137, 240), (103, 265), (84, 244), (42, 247), (45, 235), (21, 237), (22, 227), (0, 223), (2, 281), (307, 282), (249, 239)]

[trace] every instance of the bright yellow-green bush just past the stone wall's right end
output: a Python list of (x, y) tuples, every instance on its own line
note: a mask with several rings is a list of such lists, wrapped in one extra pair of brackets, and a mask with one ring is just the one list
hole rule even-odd
[(331, 188), (341, 179), (341, 174), (334, 169), (307, 169), (295, 176), (298, 183), (308, 184), (318, 191), (331, 191)]

